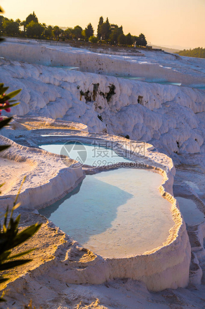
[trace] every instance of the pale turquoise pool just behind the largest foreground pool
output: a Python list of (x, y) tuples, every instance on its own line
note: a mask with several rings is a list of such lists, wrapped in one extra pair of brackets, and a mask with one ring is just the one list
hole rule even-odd
[(131, 160), (119, 156), (112, 149), (99, 145), (88, 145), (78, 142), (66, 144), (40, 145), (41, 149), (54, 154), (68, 155), (70, 158), (79, 161), (81, 164), (104, 166), (118, 162), (131, 162)]

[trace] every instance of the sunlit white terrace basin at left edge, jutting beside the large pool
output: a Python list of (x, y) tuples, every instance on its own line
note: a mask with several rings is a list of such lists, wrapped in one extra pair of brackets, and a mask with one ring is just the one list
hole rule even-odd
[(27, 208), (50, 205), (84, 178), (81, 168), (65, 168), (60, 155), (23, 147), (3, 136), (0, 136), (0, 144), (11, 145), (0, 153), (1, 179), (5, 182), (0, 194), (1, 210), (12, 207), (24, 176), (18, 201)]

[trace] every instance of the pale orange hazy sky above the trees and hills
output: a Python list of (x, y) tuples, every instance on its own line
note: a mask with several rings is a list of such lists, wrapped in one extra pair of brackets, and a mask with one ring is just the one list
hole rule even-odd
[(155, 45), (205, 48), (205, 0), (1, 0), (4, 16), (24, 20), (35, 11), (47, 25), (85, 28), (95, 33), (99, 17), (123, 25), (124, 33), (143, 33)]

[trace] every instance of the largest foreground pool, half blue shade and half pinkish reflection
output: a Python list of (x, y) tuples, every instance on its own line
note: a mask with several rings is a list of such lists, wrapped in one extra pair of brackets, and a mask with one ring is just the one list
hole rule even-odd
[(174, 226), (171, 203), (158, 189), (162, 180), (136, 168), (86, 175), (71, 193), (39, 212), (103, 257), (143, 254), (162, 246)]

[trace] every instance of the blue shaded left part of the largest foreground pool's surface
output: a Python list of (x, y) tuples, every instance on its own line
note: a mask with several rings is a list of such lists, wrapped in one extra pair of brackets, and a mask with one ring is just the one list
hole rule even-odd
[(90, 236), (110, 228), (118, 207), (133, 196), (115, 185), (96, 179), (95, 175), (87, 175), (71, 193), (39, 212), (84, 244)]

